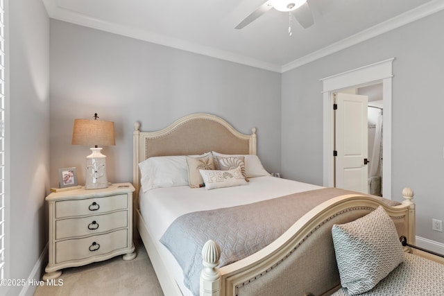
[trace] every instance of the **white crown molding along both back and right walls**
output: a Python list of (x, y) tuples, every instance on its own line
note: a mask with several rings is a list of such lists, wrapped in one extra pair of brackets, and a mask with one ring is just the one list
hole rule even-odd
[(369, 40), (370, 38), (376, 37), (377, 35), (381, 35), (395, 28), (399, 28), (400, 26), (404, 26), (411, 23), (412, 21), (416, 21), (418, 19), (421, 19), (422, 17), (427, 17), (428, 15), (432, 15), (435, 12), (444, 9), (444, 1), (430, 1), (423, 4), (422, 6), (418, 6), (418, 8), (414, 8), (413, 10), (404, 12), (402, 15), (398, 15), (397, 17), (393, 17), (392, 19), (388, 19), (381, 24), (377, 24), (376, 26), (368, 28), (343, 40), (340, 40), (339, 42), (335, 42), (334, 44), (326, 46), (323, 49), (319, 49), (318, 51), (309, 53), (302, 58), (298, 58), (297, 60), (293, 60), (292, 62), (289, 62), (287, 64), (279, 65), (253, 59), (246, 55), (239, 55), (230, 51), (222, 51), (219, 49), (214, 49), (210, 46), (203, 46), (202, 44), (188, 42), (179, 38), (169, 37), (149, 31), (143, 31), (128, 26), (113, 24), (109, 21), (103, 21), (101, 19), (80, 14), (74, 10), (60, 8), (56, 5), (55, 0), (43, 0), (43, 3), (46, 7), (46, 12), (48, 12), (49, 17), (51, 17), (52, 19), (67, 21), (72, 24), (86, 26), (108, 33), (123, 35), (138, 40), (144, 40), (146, 42), (152, 42), (155, 44), (172, 47), (174, 49), (198, 53), (200, 55), (207, 55), (212, 58), (235, 62), (237, 64), (244, 64), (250, 67), (256, 67), (259, 69), (278, 73), (291, 71), (292, 69), (296, 69), (304, 64), (314, 62), (315, 60), (324, 58), (327, 55), (331, 55), (332, 53), (336, 53), (350, 46), (353, 46), (360, 42), (364, 42), (366, 40)]

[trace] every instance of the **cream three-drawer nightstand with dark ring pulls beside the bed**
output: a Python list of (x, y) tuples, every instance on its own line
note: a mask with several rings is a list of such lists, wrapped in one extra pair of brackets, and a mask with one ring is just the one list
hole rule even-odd
[(60, 277), (63, 268), (121, 254), (123, 260), (134, 259), (134, 191), (132, 184), (120, 183), (49, 194), (49, 262), (43, 279)]

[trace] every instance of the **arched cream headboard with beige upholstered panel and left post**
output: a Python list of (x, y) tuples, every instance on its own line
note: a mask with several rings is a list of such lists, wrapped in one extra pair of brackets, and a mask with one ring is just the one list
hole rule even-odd
[(133, 132), (133, 184), (136, 195), (140, 189), (139, 163), (148, 157), (168, 155), (199, 155), (209, 151), (223, 154), (256, 154), (256, 129), (242, 134), (218, 116), (190, 114), (163, 130), (141, 132), (140, 123)]

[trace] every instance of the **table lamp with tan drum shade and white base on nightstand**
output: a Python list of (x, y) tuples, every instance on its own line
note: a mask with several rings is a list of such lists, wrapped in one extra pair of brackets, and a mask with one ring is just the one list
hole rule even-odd
[(116, 145), (114, 122), (99, 120), (97, 113), (94, 114), (94, 119), (76, 119), (71, 143), (94, 146), (90, 148), (92, 153), (86, 157), (85, 189), (108, 187), (106, 156), (98, 146)]

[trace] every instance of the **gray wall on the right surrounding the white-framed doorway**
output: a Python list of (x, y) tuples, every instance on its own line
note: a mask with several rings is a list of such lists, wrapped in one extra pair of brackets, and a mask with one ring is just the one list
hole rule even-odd
[(322, 184), (322, 82), (336, 73), (393, 62), (392, 196), (416, 193), (417, 234), (444, 243), (432, 218), (444, 220), (442, 98), (444, 11), (282, 75), (282, 174)]

